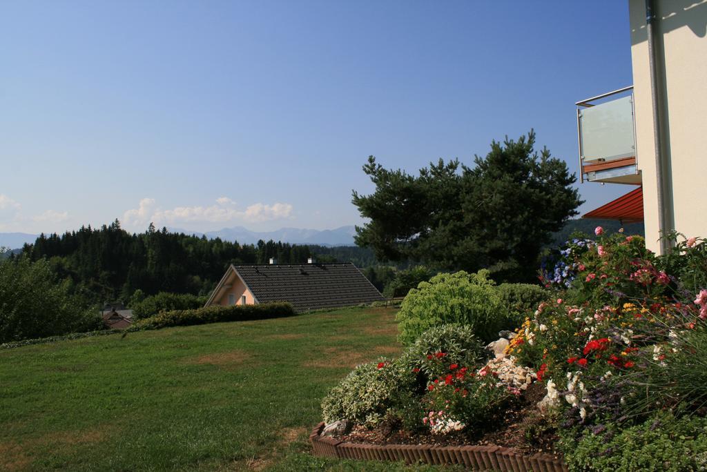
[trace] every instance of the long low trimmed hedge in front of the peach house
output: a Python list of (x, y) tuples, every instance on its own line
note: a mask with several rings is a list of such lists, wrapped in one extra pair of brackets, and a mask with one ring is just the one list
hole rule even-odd
[(295, 311), (289, 303), (177, 309), (171, 312), (161, 312), (153, 317), (141, 319), (130, 329), (132, 331), (161, 329), (170, 326), (192, 326), (195, 324), (222, 323), (224, 321), (289, 317), (293, 314), (295, 314)]

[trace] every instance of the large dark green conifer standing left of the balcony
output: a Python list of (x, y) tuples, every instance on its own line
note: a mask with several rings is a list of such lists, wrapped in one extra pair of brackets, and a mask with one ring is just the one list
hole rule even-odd
[(474, 166), (439, 160), (419, 171), (386, 170), (370, 156), (363, 166), (373, 194), (354, 191), (369, 222), (356, 243), (382, 260), (413, 259), (441, 269), (489, 268), (499, 281), (529, 281), (551, 232), (583, 203), (576, 177), (547, 148), (534, 151), (535, 134), (493, 141)]

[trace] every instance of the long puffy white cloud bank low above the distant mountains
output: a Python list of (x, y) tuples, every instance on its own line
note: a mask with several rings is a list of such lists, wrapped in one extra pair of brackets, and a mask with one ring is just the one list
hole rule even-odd
[(156, 207), (154, 199), (142, 199), (138, 208), (132, 208), (123, 214), (123, 224), (131, 227), (147, 225), (181, 225), (183, 223), (231, 223), (237, 221), (262, 222), (290, 218), (290, 203), (253, 203), (245, 210), (238, 208), (235, 201), (226, 196), (216, 199), (211, 206), (177, 206), (171, 209)]

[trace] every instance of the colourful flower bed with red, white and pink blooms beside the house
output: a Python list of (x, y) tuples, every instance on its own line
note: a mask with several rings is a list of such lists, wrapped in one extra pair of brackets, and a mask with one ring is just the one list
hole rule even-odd
[[(549, 299), (486, 352), (477, 336), (498, 326), (493, 317), (513, 317), (499, 312), (483, 274), (469, 283), (483, 284), (495, 304), (484, 324), (463, 321), (479, 302), (455, 299), (421, 319), (411, 297), (405, 336), (416, 323), (433, 327), (399, 358), (359, 366), (330, 392), (325, 421), (353, 430), (327, 444), (409, 442), (449, 455), (488, 443), (529, 457), (564, 454), (573, 471), (707, 468), (707, 244), (672, 235), (674, 249), (655, 256), (641, 237), (602, 233), (561, 249), (542, 275)], [(433, 309), (445, 303), (428, 300)], [(438, 324), (452, 317), (462, 324)]]

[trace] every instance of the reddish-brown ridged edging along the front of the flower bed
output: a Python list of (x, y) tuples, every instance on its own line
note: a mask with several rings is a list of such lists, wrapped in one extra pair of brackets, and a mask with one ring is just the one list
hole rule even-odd
[(430, 444), (357, 444), (322, 437), (324, 423), (310, 434), (315, 456), (365, 461), (405, 461), (406, 464), (459, 464), (472, 471), (568, 472), (562, 459), (550, 454), (521, 454), (498, 446), (432, 446)]

